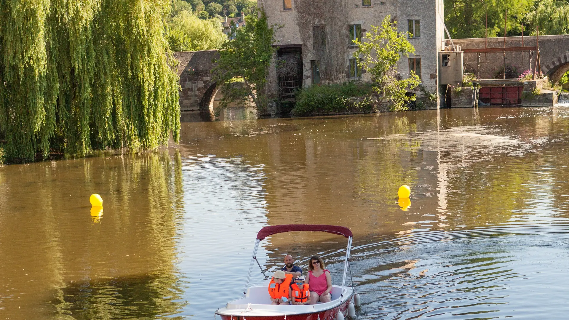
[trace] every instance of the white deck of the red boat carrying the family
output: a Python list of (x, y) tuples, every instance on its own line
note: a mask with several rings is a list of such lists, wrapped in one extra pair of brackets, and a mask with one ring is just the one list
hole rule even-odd
[[(332, 309), (340, 305), (341, 286), (332, 286), (332, 301), (315, 305), (271, 305), (271, 299), (267, 287), (269, 282), (263, 285), (253, 285), (247, 290), (245, 297), (227, 303), (226, 307), (217, 310), (217, 314), (222, 315), (248, 315), (267, 316), (267, 315), (292, 315), (306, 314)], [(353, 294), (351, 287), (344, 287), (343, 301), (348, 300)]]

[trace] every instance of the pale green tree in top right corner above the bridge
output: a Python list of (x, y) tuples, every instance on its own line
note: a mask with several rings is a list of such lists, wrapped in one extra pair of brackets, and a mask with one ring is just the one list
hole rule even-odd
[[(527, 19), (539, 26), (539, 34), (555, 35), (569, 33), (569, 3), (566, 1), (542, 0)], [(533, 32), (535, 34), (535, 32)]]

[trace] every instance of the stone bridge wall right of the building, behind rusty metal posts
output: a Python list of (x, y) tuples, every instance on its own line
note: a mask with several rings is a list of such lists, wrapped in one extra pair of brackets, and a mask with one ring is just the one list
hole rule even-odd
[[(450, 40), (447, 46), (450, 46)], [(459, 44), (463, 49), (474, 48), (502, 48), (504, 47), (504, 38), (472, 38), (472, 39), (453, 39), (455, 44)], [(523, 46), (536, 46), (535, 36), (524, 36)], [(522, 47), (521, 36), (506, 37), (506, 47)], [(569, 35), (544, 35), (539, 36), (539, 55), (541, 60), (541, 69), (544, 75), (556, 83), (559, 81), (563, 73), (569, 70)], [(528, 52), (506, 52), (506, 65), (510, 64), (517, 68), (518, 73), (522, 73), (527, 69), (535, 67), (536, 53)], [(467, 72), (477, 73), (477, 54), (464, 54), (464, 68)], [(479, 79), (493, 79), (497, 73), (504, 70), (504, 52), (489, 52), (480, 54), (480, 73)], [(485, 62), (489, 61), (489, 62)]]

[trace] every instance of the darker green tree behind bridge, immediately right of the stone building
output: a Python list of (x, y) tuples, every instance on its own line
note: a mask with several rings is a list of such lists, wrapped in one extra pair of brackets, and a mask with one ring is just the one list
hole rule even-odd
[(504, 36), (504, 15), (508, 10), (508, 36), (518, 36), (533, 3), (534, 0), (446, 0), (444, 21), (452, 38), (484, 38), (488, 13), (488, 36)]

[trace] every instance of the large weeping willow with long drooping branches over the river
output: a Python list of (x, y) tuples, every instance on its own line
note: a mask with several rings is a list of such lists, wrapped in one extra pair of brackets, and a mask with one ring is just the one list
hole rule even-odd
[(179, 140), (168, 0), (0, 0), (6, 158)]

